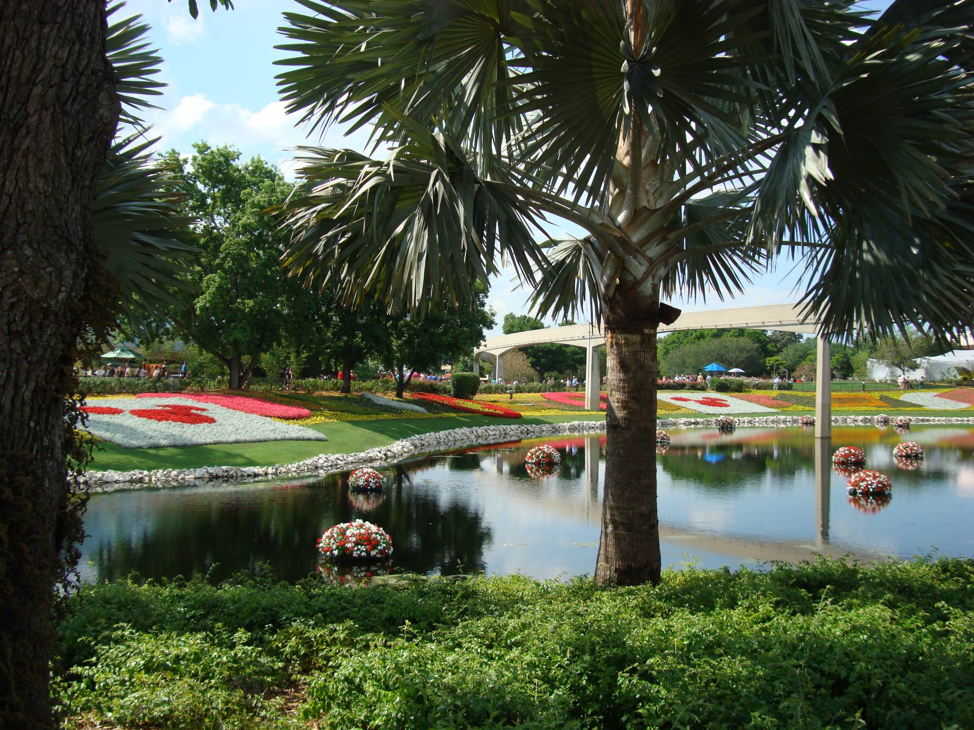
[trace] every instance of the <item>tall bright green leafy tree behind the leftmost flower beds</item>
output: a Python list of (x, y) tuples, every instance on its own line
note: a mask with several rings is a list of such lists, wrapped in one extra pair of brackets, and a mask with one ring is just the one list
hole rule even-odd
[(305, 296), (281, 270), (286, 236), (265, 211), (280, 205), (291, 186), (261, 158), (240, 162), (227, 147), (193, 145), (182, 159), (170, 150), (165, 162), (177, 170), (174, 187), (185, 213), (199, 220), (199, 252), (174, 290), (183, 306), (169, 311), (177, 332), (223, 363), (230, 387), (242, 388), (260, 356), (281, 342), (285, 325), (301, 316)]

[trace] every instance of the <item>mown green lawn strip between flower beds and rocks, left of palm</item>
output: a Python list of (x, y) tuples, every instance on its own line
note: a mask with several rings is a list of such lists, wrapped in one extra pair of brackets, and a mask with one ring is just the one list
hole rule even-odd
[(482, 425), (563, 423), (571, 420), (601, 420), (594, 414), (533, 416), (518, 420), (489, 416), (450, 416), (442, 419), (352, 420), (309, 426), (328, 437), (327, 441), (266, 441), (255, 444), (210, 444), (172, 446), (161, 449), (124, 449), (100, 442), (90, 470), (194, 469), (200, 466), (267, 466), (300, 461), (318, 454), (355, 454), (392, 444), (418, 433), (445, 431)]

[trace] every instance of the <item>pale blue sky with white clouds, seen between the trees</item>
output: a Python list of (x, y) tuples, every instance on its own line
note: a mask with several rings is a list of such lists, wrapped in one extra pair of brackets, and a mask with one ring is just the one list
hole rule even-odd
[[(863, 8), (880, 10), (890, 0), (871, 0)], [(163, 135), (161, 146), (190, 152), (200, 140), (231, 144), (244, 157), (260, 155), (291, 171), (291, 150), (300, 144), (324, 144), (363, 149), (366, 135), (342, 135), (328, 129), (308, 140), (302, 129), (284, 113), (278, 100), (274, 61), (283, 54), (277, 28), (281, 13), (301, 12), (292, 0), (234, 0), (235, 10), (210, 13), (200, 2), (200, 18), (193, 20), (186, 0), (130, 0), (119, 17), (140, 13), (152, 25), (150, 39), (160, 49), (165, 63), (161, 80), (168, 84), (158, 102), (162, 110), (148, 115), (155, 133)], [(552, 233), (560, 233), (552, 227)], [(794, 287), (801, 272), (783, 261), (774, 271), (754, 280), (748, 291), (733, 300), (716, 297), (706, 301), (675, 302), (684, 310), (746, 307), (797, 300)], [(492, 282), (490, 304), (497, 311), (498, 327), (504, 315), (527, 312), (528, 292), (520, 289), (512, 272), (502, 272)]]

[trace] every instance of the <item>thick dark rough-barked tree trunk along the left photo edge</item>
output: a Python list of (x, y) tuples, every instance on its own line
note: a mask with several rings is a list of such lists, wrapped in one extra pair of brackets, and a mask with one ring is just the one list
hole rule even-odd
[(0, 28), (0, 727), (50, 728), (62, 396), (119, 107), (103, 0), (5, 0)]

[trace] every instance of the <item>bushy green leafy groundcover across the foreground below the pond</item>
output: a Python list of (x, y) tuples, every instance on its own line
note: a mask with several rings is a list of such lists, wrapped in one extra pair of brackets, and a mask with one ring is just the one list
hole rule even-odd
[[(80, 599), (80, 600), (79, 600)], [(87, 587), (66, 727), (974, 727), (974, 562)]]

